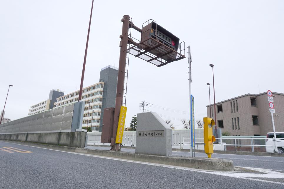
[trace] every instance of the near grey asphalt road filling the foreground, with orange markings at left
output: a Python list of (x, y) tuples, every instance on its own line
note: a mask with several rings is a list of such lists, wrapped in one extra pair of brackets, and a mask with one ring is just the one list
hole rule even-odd
[(276, 183), (278, 180), (237, 178), (228, 173), (115, 160), (2, 141), (0, 168), (0, 188), (284, 187), (284, 183)]

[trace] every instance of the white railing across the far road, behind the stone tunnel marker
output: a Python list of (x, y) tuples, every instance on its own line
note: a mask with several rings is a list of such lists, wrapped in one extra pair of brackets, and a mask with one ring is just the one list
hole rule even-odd
[[(109, 143), (101, 143), (101, 132), (87, 133), (87, 144), (88, 145), (110, 145)], [(198, 134), (198, 132), (197, 132)], [(190, 138), (182, 137), (187, 135), (185, 133), (172, 133), (172, 148), (190, 149)], [(204, 138), (199, 134), (200, 138), (195, 138), (195, 149), (204, 150)], [(229, 151), (261, 151), (266, 152), (266, 147), (273, 147), (274, 143), (271, 140), (273, 138), (266, 138), (266, 136), (222, 136), (216, 138), (217, 143), (213, 144), (214, 150), (229, 150)], [(277, 138), (277, 147), (284, 149), (284, 138)], [(283, 140), (282, 145), (280, 143)], [(269, 141), (269, 144), (267, 144)], [(280, 143), (279, 143), (280, 141)], [(136, 145), (136, 131), (124, 131), (123, 146), (135, 146)], [(246, 148), (250, 147), (250, 148)], [(273, 151), (273, 150), (272, 150)]]

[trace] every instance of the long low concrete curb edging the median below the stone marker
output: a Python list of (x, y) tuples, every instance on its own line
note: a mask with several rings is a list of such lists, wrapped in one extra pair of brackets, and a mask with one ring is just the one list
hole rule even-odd
[[(6, 141), (6, 140), (1, 140)], [(216, 158), (184, 158), (184, 157), (172, 157), (172, 156), (158, 156), (158, 155), (147, 155), (127, 152), (117, 152), (109, 150), (95, 150), (85, 148), (75, 148), (67, 146), (58, 146), (41, 143), (29, 143), (19, 141), (7, 141), (10, 143), (18, 143), (31, 145), (35, 147), (49, 148), (54, 150), (62, 150), (67, 152), (84, 153), (91, 155), (99, 155), (111, 158), (127, 159), (134, 161), (142, 161), (147, 163), (159, 163), (164, 165), (174, 165), (187, 168), (203, 169), (203, 170), (217, 170), (217, 171), (231, 171), (234, 170), (233, 162), (231, 160), (222, 160)]]

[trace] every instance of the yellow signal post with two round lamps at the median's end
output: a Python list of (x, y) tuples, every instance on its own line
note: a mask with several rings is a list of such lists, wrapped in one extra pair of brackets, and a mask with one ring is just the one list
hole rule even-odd
[(215, 136), (213, 136), (213, 126), (215, 121), (212, 118), (203, 118), (204, 125), (204, 151), (207, 153), (208, 158), (211, 158), (213, 153), (213, 142), (216, 141)]

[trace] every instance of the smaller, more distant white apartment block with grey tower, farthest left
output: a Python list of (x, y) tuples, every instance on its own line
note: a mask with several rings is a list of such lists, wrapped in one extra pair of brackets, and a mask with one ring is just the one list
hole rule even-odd
[(46, 110), (52, 109), (53, 108), (52, 103), (54, 103), (56, 101), (56, 98), (63, 96), (63, 95), (64, 95), (64, 91), (60, 91), (58, 89), (57, 90), (55, 90), (55, 89), (50, 90), (49, 98), (45, 101), (42, 101), (42, 102), (39, 102), (39, 103), (36, 103), (36, 104), (30, 106), (28, 114), (34, 115), (34, 114), (41, 113), (41, 112), (44, 112)]

